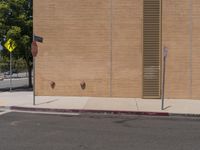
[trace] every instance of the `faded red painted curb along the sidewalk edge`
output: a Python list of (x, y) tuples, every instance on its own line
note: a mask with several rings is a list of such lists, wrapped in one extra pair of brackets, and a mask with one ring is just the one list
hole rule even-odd
[(40, 111), (57, 113), (107, 113), (107, 114), (127, 114), (127, 115), (145, 115), (145, 116), (169, 116), (167, 112), (147, 112), (147, 111), (120, 111), (120, 110), (93, 110), (93, 109), (54, 109), (54, 108), (34, 108), (11, 106), (11, 110), (19, 111)]

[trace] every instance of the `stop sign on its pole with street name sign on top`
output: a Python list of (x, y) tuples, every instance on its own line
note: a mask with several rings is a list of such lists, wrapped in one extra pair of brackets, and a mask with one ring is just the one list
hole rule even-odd
[(42, 43), (43, 38), (33, 34), (33, 41), (32, 41), (32, 44), (31, 44), (31, 53), (32, 53), (32, 56), (33, 56), (33, 105), (35, 105), (35, 58), (36, 58), (37, 53), (38, 53), (37, 42)]

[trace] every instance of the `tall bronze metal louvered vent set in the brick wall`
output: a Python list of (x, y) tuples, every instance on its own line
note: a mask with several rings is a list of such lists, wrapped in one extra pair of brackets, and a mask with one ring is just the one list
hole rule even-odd
[(143, 98), (160, 98), (161, 0), (144, 0)]

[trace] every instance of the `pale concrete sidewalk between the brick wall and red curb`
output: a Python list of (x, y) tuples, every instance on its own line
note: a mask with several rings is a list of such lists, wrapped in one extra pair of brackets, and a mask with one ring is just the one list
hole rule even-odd
[(200, 100), (167, 99), (164, 106), (160, 99), (61, 96), (36, 96), (34, 106), (33, 92), (0, 93), (0, 107), (14, 110), (200, 116)]

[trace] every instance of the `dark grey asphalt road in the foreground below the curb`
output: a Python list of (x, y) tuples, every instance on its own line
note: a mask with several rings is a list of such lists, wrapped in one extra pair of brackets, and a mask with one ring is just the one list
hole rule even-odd
[(1, 150), (199, 150), (200, 119), (0, 115)]

